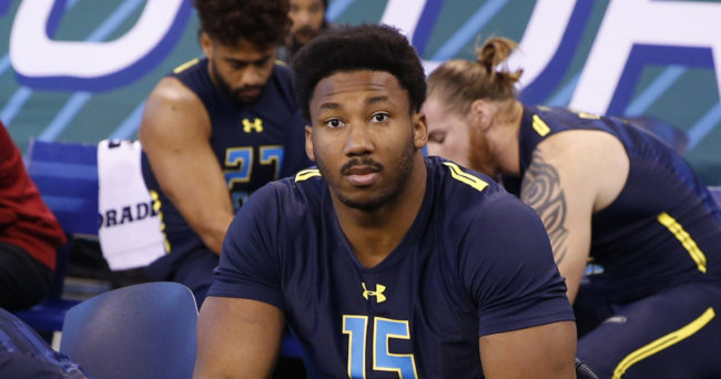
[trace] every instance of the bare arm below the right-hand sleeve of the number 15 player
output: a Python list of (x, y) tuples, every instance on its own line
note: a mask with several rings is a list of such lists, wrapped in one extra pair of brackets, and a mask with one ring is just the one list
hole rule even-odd
[(478, 344), (487, 379), (576, 378), (573, 321), (483, 336)]

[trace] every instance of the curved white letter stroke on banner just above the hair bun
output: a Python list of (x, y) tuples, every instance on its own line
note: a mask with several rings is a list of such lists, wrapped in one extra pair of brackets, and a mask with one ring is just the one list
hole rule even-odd
[(519, 49), (508, 57), (508, 69), (524, 69), (519, 88), (531, 83), (546, 69), (560, 47), (576, 0), (538, 0)]

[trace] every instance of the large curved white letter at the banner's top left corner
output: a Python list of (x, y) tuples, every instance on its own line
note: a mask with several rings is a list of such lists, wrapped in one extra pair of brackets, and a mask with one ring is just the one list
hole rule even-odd
[(10, 60), (29, 80), (95, 79), (132, 69), (148, 58), (172, 30), (187, 0), (148, 0), (135, 25), (106, 42), (53, 41), (48, 35), (55, 0), (20, 3), (10, 34)]

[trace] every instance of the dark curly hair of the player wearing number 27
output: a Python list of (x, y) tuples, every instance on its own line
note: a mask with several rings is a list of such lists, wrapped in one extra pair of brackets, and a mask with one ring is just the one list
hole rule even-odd
[(258, 49), (283, 43), (291, 29), (288, 0), (195, 0), (201, 31), (223, 45), (241, 39)]

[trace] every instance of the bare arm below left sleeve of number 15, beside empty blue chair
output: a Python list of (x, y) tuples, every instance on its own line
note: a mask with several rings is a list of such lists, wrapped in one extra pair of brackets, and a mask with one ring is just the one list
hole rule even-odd
[(268, 378), (283, 321), (281, 309), (265, 303), (207, 297), (197, 320), (193, 378)]

